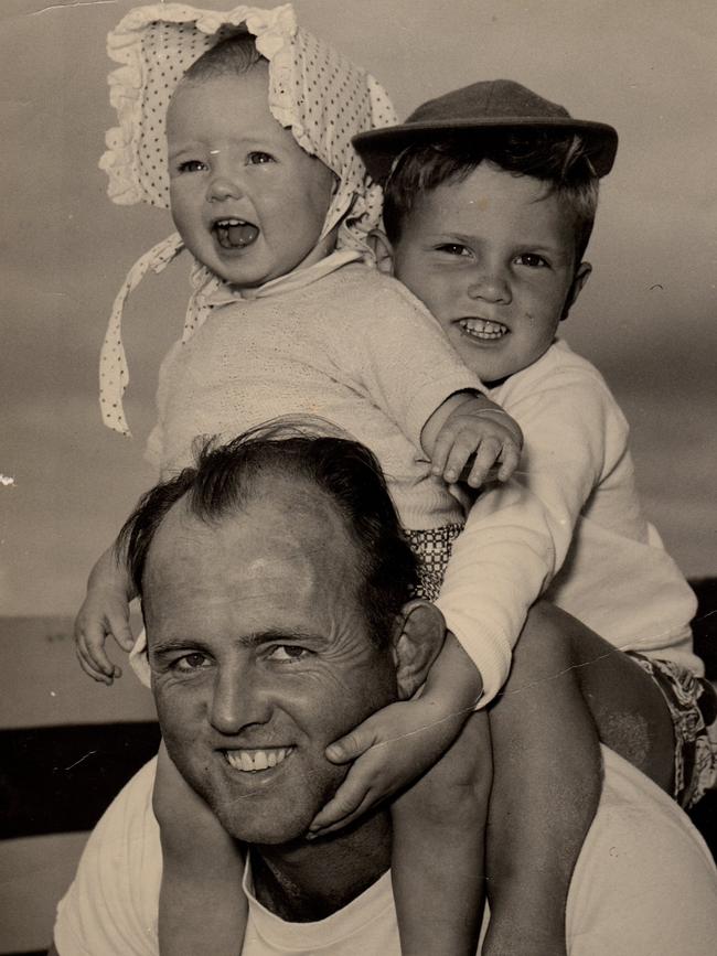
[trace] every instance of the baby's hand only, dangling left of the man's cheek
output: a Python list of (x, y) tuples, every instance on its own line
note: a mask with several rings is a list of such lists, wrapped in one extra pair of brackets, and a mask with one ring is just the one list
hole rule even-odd
[(121, 677), (121, 667), (109, 659), (105, 640), (111, 636), (122, 651), (132, 649), (127, 594), (116, 588), (90, 587), (75, 619), (75, 644), (79, 666), (95, 680), (110, 685)]

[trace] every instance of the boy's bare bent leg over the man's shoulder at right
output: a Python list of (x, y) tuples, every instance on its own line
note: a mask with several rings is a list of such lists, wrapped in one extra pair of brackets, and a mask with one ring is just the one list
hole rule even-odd
[(563, 954), (570, 877), (600, 798), (599, 742), (668, 788), (672, 721), (638, 665), (570, 615), (541, 605), (490, 722), (484, 953)]

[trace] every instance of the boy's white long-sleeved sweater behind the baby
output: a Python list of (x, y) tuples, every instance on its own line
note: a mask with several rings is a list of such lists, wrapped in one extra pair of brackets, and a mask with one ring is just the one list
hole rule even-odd
[(695, 595), (642, 512), (628, 423), (597, 368), (558, 342), (489, 394), (523, 429), (523, 458), (473, 504), (439, 599), (482, 702), (541, 593), (618, 647), (703, 674)]

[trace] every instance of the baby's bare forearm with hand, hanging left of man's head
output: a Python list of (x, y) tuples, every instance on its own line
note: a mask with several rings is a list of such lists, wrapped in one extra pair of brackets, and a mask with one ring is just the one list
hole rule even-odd
[(121, 676), (109, 659), (105, 640), (111, 635), (124, 651), (135, 643), (129, 624), (129, 603), (135, 598), (129, 574), (117, 544), (109, 547), (93, 568), (87, 595), (75, 619), (75, 644), (85, 674), (104, 684)]

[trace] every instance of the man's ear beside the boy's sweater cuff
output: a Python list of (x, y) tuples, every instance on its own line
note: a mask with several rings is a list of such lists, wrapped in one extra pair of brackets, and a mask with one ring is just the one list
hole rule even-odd
[(424, 684), (445, 636), (446, 621), (435, 604), (418, 598), (404, 604), (396, 622), (393, 651), (402, 700), (413, 697)]

